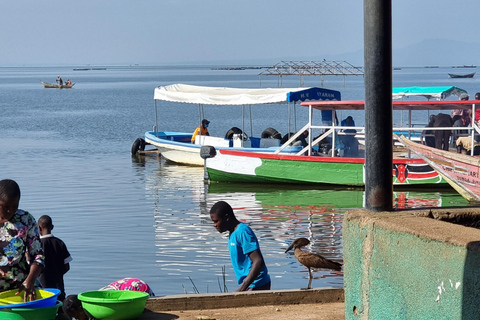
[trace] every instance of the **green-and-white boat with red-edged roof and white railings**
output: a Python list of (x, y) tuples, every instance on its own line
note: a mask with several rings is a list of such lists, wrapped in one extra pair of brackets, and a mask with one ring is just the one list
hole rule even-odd
[[(473, 108), (480, 101), (394, 101), (394, 110), (451, 110)], [(308, 130), (309, 137), (315, 136), (314, 129), (325, 126), (312, 124), (313, 110), (364, 110), (363, 101), (318, 101), (304, 102), (309, 107), (309, 122), (300, 131)], [(410, 112), (411, 117), (411, 112)], [(411, 123), (411, 119), (409, 119)], [(321, 143), (329, 135), (331, 145), (338, 150), (341, 145), (340, 128), (356, 129), (361, 127), (338, 127), (332, 125), (329, 130), (314, 140), (309, 139), (309, 146), (297, 154), (279, 154), (277, 150), (270, 154), (247, 153), (238, 150), (219, 150), (217, 154), (206, 160), (206, 169), (211, 181), (244, 182), (244, 183), (288, 183), (288, 184), (321, 184), (364, 186), (364, 163), (362, 153), (356, 157), (337, 156), (341, 152), (322, 152)], [(423, 127), (396, 127), (397, 132), (423, 131)], [(432, 129), (432, 128), (429, 128)], [(444, 129), (444, 128), (442, 128)], [(448, 128), (447, 128), (448, 129)], [(450, 128), (450, 129), (453, 129)], [(345, 134), (344, 134), (345, 135)], [(294, 137), (292, 137), (294, 138)], [(286, 145), (292, 139), (287, 141)], [(316, 154), (315, 152), (316, 151)], [(392, 182), (395, 186), (447, 186), (447, 181), (438, 174), (425, 160), (406, 157), (407, 149), (394, 147), (392, 163)], [(308, 155), (304, 155), (308, 153)]]

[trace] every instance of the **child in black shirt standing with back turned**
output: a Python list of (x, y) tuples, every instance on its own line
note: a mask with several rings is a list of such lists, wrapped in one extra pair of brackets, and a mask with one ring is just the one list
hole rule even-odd
[(53, 236), (53, 224), (50, 216), (43, 215), (38, 219), (38, 229), (45, 254), (45, 269), (39, 277), (40, 284), (43, 288), (59, 289), (61, 293), (58, 300), (63, 301), (65, 299), (63, 275), (70, 270), (72, 257), (65, 243)]

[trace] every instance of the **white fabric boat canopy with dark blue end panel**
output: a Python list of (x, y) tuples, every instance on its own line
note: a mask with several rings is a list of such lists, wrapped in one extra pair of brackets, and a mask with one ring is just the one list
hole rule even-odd
[(254, 105), (341, 100), (341, 95), (339, 91), (316, 87), (244, 89), (172, 84), (155, 88), (154, 99), (205, 105)]

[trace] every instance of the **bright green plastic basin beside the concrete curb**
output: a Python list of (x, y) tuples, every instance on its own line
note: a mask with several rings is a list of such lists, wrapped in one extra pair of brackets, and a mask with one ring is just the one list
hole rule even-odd
[(138, 291), (87, 291), (78, 295), (90, 317), (98, 320), (138, 319), (145, 309), (149, 295)]

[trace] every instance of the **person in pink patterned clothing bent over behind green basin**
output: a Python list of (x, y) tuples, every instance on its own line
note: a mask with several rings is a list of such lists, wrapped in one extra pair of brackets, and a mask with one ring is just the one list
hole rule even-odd
[[(138, 278), (123, 278), (109, 285), (100, 288), (101, 290), (120, 290), (120, 291), (139, 291), (146, 292), (150, 297), (155, 296), (150, 286), (143, 280)], [(82, 307), (82, 302), (78, 299), (78, 295), (72, 294), (65, 298), (62, 306), (63, 313), (70, 318), (77, 320), (89, 320), (85, 310)]]

